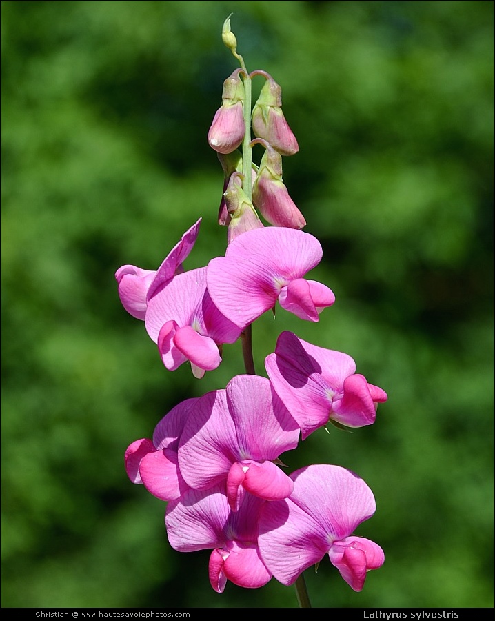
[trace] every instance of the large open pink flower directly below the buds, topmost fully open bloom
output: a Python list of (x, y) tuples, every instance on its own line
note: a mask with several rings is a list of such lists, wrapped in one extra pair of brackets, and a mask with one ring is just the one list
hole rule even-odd
[(248, 230), (208, 264), (208, 291), (221, 313), (242, 329), (277, 299), (301, 319), (319, 320), (335, 302), (327, 286), (303, 276), (319, 264), (321, 244), (309, 233), (282, 227)]

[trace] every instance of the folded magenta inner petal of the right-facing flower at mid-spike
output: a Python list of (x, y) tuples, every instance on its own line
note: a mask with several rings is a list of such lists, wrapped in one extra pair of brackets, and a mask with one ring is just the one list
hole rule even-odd
[(371, 425), (376, 418), (375, 406), (363, 375), (356, 373), (344, 380), (344, 394), (334, 400), (331, 417), (348, 427)]

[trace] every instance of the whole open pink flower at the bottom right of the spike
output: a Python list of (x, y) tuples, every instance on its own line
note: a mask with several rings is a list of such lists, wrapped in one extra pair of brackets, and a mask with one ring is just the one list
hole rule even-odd
[(325, 553), (354, 591), (385, 561), (378, 544), (353, 535), (374, 514), (374, 496), (357, 475), (340, 466), (312, 465), (292, 473), (294, 491), (261, 509), (259, 550), (274, 578), (293, 584)]

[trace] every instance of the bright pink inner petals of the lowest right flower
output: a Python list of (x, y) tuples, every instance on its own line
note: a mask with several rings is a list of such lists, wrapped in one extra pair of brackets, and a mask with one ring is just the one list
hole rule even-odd
[(362, 537), (347, 537), (332, 544), (330, 561), (354, 591), (361, 591), (366, 573), (378, 569), (385, 562), (385, 554), (378, 544)]

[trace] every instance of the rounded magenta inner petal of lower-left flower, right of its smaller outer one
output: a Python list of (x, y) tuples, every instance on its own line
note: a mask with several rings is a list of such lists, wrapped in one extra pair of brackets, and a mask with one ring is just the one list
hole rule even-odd
[(174, 500), (188, 489), (179, 472), (177, 455), (172, 449), (145, 455), (139, 473), (145, 488), (160, 500)]

